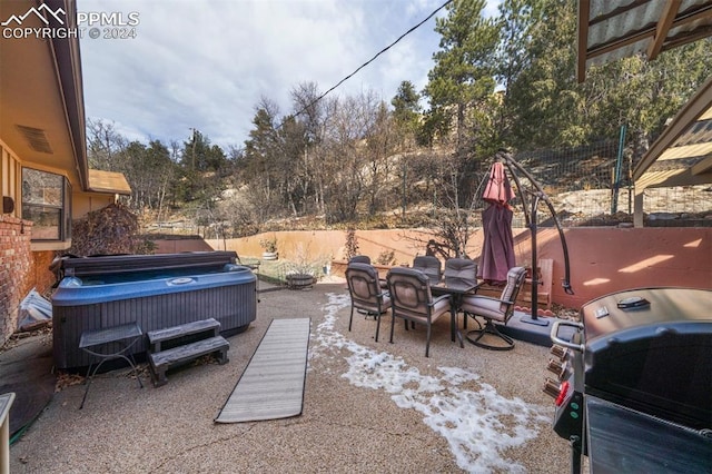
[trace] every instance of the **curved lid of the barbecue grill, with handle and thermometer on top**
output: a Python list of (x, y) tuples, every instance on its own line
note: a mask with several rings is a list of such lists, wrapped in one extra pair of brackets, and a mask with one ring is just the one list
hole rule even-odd
[(691, 288), (633, 289), (584, 305), (585, 392), (712, 427), (711, 313), (712, 292)]

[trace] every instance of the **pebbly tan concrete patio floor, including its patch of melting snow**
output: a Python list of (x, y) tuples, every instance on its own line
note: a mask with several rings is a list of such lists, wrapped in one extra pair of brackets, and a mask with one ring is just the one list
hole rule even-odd
[[(260, 289), (266, 289), (265, 285)], [(65, 387), (11, 446), (13, 473), (530, 472), (570, 470), (541, 391), (546, 347), (490, 352), (425, 330), (354, 316), (343, 282), (260, 294), (257, 320), (229, 338), (230, 362), (168, 374), (138, 388), (127, 369)], [(312, 318), (304, 412), (286, 419), (214, 424), (273, 318)], [(144, 365), (145, 367), (145, 365)]]

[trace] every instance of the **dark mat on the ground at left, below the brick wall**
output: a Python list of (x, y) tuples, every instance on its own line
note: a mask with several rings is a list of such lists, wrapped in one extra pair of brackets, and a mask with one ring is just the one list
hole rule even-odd
[(51, 335), (20, 339), (0, 353), (0, 394), (14, 392), (10, 407), (10, 436), (26, 428), (55, 394)]

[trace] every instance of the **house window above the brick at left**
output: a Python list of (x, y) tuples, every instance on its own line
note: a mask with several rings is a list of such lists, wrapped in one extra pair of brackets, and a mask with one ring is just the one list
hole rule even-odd
[(61, 175), (22, 168), (22, 218), (31, 220), (32, 240), (71, 237), (71, 187)]

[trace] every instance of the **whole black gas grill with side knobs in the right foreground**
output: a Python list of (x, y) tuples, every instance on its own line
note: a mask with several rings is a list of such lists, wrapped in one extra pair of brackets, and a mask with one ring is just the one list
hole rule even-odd
[[(554, 324), (555, 377), (544, 384), (556, 398), (554, 431), (574, 448), (572, 471), (586, 454), (592, 472), (712, 472), (712, 292), (632, 289), (585, 304), (580, 316)], [(562, 326), (576, 328), (571, 339)], [(660, 453), (676, 444), (671, 464)]]

